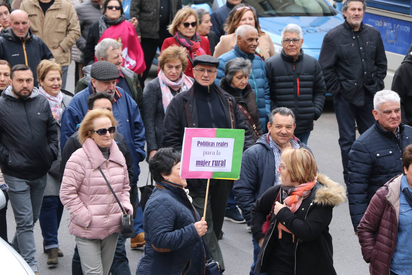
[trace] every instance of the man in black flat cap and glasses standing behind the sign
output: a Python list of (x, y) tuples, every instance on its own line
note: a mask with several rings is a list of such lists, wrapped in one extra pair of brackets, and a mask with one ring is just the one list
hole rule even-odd
[[(173, 97), (163, 122), (163, 145), (182, 149), (185, 127), (189, 128), (229, 128), (245, 129), (244, 149), (253, 145), (248, 127), (236, 108), (233, 96), (215, 85), (219, 60), (210, 55), (197, 56), (193, 60), (194, 84), (192, 88)], [(208, 232), (204, 240), (211, 256), (224, 269), (218, 237), (222, 230), (223, 218), (231, 181), (211, 179), (205, 220)], [(193, 199), (192, 204), (203, 213), (206, 197), (205, 179), (188, 179), (187, 188)]]

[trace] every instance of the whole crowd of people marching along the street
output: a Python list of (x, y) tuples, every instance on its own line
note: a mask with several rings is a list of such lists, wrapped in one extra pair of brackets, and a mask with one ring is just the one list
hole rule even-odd
[[(144, 249), (136, 275), (204, 274), (209, 254), (225, 270), (229, 220), (252, 233), (250, 275), (332, 275), (329, 224), (347, 199), (370, 273), (407, 275), (412, 55), (384, 89), (384, 46), (363, 24), (365, 9), (365, 0), (344, 2), (345, 21), (316, 60), (296, 24), (275, 54), (255, 7), (240, 0), (212, 14), (132, 0), (129, 20), (120, 0), (0, 1), (0, 189), (16, 222), (9, 239), (0, 209), (0, 237), (38, 275), (35, 222), (56, 265), (66, 208), (73, 275), (130, 275), (122, 216), (132, 215), (131, 248)], [(157, 48), (158, 74), (145, 85)], [(327, 92), (346, 192), (307, 146)], [(207, 179), (179, 174), (185, 128), (245, 130), (240, 177), (210, 180), (204, 217)], [(156, 183), (143, 212), (144, 160)]]

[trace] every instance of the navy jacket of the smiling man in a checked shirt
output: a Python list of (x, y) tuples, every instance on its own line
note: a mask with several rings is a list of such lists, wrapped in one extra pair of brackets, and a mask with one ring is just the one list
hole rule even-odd
[[(269, 133), (270, 134), (270, 133)], [(240, 177), (234, 181), (233, 191), (236, 204), (242, 210), (246, 223), (250, 225), (250, 210), (252, 204), (260, 198), (267, 189), (273, 186), (275, 179), (275, 157), (269, 146), (269, 134), (260, 136), (255, 145), (248, 148), (242, 155)], [(301, 147), (310, 150), (304, 143), (293, 136)]]

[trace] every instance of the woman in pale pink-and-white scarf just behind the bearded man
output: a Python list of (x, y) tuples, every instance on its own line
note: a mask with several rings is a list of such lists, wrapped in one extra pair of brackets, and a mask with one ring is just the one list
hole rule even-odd
[(47, 253), (47, 264), (55, 265), (59, 263), (58, 256), (63, 256), (59, 249), (59, 240), (57, 231), (63, 214), (63, 204), (60, 202), (60, 184), (61, 177), (59, 174), (61, 162), (60, 133), (61, 133), (61, 114), (72, 99), (70, 92), (61, 89), (61, 65), (51, 61), (42, 60), (37, 66), (37, 78), (39, 81), (39, 93), (46, 97), (52, 114), (56, 120), (57, 137), (59, 139), (59, 155), (57, 160), (52, 163), (48, 172), (47, 185), (44, 189), (42, 208), (40, 209), (40, 228), (43, 236), (43, 252)]

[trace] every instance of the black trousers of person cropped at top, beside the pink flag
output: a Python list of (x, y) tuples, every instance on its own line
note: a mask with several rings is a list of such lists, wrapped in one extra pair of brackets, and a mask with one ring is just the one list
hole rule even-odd
[(143, 53), (145, 54), (146, 63), (146, 70), (140, 78), (140, 85), (142, 86), (142, 89), (145, 87), (145, 80), (150, 71), (150, 66), (152, 66), (153, 58), (155, 58), (157, 47), (159, 47), (159, 50), (162, 49), (164, 40), (169, 37), (172, 37), (172, 35), (166, 30), (166, 26), (160, 26), (159, 39), (142, 37), (141, 45)]

